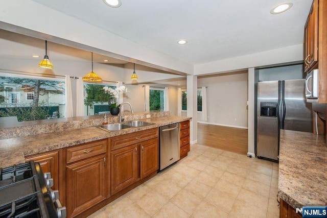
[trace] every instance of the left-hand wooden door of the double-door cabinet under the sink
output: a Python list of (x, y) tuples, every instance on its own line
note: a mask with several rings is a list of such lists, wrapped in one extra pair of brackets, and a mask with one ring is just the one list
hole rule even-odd
[(111, 195), (139, 180), (139, 145), (111, 152)]

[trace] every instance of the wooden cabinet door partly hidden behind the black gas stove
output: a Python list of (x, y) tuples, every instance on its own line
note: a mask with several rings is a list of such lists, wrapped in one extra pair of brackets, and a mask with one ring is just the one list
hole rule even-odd
[(25, 158), (26, 162), (34, 160), (34, 162), (39, 162), (43, 173), (51, 173), (51, 178), (53, 178), (54, 185), (53, 190), (59, 189), (59, 151), (49, 152), (45, 154), (37, 154), (28, 156)]

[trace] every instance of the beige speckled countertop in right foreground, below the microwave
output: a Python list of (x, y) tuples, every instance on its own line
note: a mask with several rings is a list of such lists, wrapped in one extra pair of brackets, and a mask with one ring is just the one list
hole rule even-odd
[(324, 136), (281, 130), (278, 197), (293, 208), (327, 205)]

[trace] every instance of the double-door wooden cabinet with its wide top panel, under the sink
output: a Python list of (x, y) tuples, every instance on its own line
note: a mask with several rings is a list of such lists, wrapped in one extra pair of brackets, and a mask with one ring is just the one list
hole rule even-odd
[(111, 195), (157, 171), (158, 128), (115, 136), (111, 150)]

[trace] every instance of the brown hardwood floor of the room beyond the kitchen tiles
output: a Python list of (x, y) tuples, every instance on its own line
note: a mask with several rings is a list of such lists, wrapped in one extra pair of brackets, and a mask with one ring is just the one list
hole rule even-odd
[(246, 155), (247, 129), (198, 124), (198, 143)]

